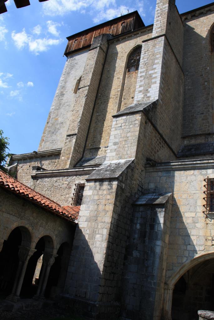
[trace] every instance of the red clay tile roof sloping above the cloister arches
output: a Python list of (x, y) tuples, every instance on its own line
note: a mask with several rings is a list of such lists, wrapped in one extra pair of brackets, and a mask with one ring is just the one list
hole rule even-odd
[(78, 218), (80, 206), (61, 207), (60, 204), (19, 182), (2, 170), (0, 170), (0, 186), (20, 195), (21, 197), (24, 197), (25, 199), (30, 200), (35, 204), (38, 204), (48, 211), (56, 213), (62, 218), (73, 222), (75, 222)]

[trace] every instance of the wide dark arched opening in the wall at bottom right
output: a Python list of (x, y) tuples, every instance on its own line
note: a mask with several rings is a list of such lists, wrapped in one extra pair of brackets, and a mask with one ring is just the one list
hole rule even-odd
[(173, 291), (173, 320), (198, 320), (200, 309), (214, 310), (214, 259), (190, 268)]

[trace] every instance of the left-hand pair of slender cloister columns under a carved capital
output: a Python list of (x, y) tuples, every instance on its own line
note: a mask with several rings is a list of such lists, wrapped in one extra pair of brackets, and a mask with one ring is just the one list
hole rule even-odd
[(15, 276), (15, 281), (13, 284), (13, 290), (11, 294), (6, 298), (6, 300), (10, 300), (13, 302), (17, 302), (17, 300), (20, 299), (20, 291), (22, 287), (22, 283), (24, 280), (24, 275), (25, 271), (28, 265), (28, 260), (32, 256), (32, 254), (36, 251), (36, 249), (24, 247), (24, 246), (19, 246), (19, 265), (17, 268), (16, 276)]

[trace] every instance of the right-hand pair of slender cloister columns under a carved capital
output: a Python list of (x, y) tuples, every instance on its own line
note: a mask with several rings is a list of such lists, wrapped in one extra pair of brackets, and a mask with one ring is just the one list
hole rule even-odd
[(51, 266), (54, 264), (57, 254), (43, 252), (42, 268), (39, 275), (39, 286), (34, 299), (44, 299), (45, 289)]

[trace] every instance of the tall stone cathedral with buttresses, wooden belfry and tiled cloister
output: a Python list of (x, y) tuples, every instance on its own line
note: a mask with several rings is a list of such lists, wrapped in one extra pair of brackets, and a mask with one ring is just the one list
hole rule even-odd
[(4, 306), (196, 320), (214, 310), (214, 3), (67, 40), (38, 151), (0, 171)]

